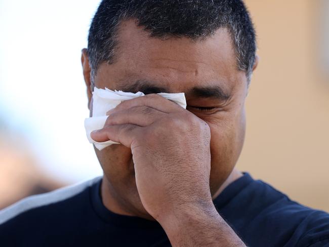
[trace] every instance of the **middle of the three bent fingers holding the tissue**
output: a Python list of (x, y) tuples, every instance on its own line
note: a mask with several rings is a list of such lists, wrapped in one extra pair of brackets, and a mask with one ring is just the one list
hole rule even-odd
[(117, 110), (110, 113), (105, 125), (132, 124), (137, 126), (149, 126), (158, 119), (165, 117), (168, 113), (155, 110), (148, 106), (133, 106), (129, 109)]

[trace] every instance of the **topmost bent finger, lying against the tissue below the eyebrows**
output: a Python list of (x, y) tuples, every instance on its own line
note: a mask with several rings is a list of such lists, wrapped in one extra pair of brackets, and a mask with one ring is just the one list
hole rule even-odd
[(114, 112), (116, 110), (128, 109), (133, 106), (144, 105), (156, 109), (164, 113), (171, 113), (184, 110), (183, 107), (179, 106), (173, 101), (170, 101), (157, 94), (148, 94), (142, 97), (134, 98), (131, 100), (122, 101), (114, 109), (109, 110), (107, 113)]

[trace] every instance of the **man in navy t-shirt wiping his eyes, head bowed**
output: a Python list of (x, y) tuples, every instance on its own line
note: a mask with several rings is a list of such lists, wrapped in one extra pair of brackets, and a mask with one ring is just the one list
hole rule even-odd
[(88, 41), (90, 109), (94, 87), (147, 95), (92, 133), (120, 143), (95, 149), (103, 178), (4, 210), (2, 246), (329, 246), (327, 213), (234, 168), (258, 63), (240, 0), (104, 0)]

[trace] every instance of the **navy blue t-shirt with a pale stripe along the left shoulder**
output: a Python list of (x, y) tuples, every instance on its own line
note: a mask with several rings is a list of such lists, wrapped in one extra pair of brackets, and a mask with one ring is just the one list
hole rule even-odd
[[(101, 182), (98, 177), (30, 196), (0, 211), (0, 246), (171, 246), (158, 222), (105, 208)], [(329, 246), (329, 214), (290, 200), (248, 173), (214, 204), (247, 246)]]

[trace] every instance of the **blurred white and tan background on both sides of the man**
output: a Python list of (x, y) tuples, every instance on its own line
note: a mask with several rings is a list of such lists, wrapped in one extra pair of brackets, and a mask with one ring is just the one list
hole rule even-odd
[[(80, 65), (99, 0), (0, 0), (0, 209), (101, 176)], [(237, 167), (329, 211), (329, 0), (245, 0), (260, 63)]]

